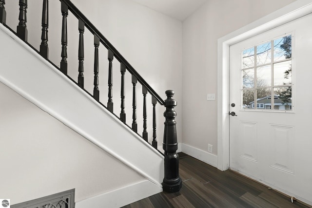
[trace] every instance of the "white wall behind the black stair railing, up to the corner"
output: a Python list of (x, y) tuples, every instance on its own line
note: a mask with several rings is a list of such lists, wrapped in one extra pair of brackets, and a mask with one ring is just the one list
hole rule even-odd
[[(166, 90), (175, 90), (177, 100), (177, 134), (182, 141), (182, 23), (157, 13), (131, 0), (72, 0), (80, 11), (98, 28), (98, 30), (117, 48), (119, 53), (137, 70), (137, 72), (163, 98)], [(18, 1), (8, 1), (7, 24), (16, 29), (18, 25)], [(41, 36), (42, 0), (28, 1), (27, 28), (28, 41), (39, 50)], [(61, 12), (59, 0), (49, 1), (49, 49), (50, 59), (59, 66), (61, 51)], [(78, 20), (72, 14), (68, 16), (68, 75), (77, 81), (78, 77)], [(93, 94), (93, 36), (87, 29), (84, 34), (85, 89)], [(107, 50), (99, 47), (99, 90), (100, 101), (107, 104), (108, 61)], [(120, 66), (113, 61), (113, 102), (114, 113), (120, 113)], [(132, 123), (132, 83), (126, 73), (126, 119)], [(143, 131), (143, 96), (141, 86), (137, 85), (137, 123), (138, 132)], [(152, 141), (152, 104), (147, 97), (149, 141)], [(157, 109), (157, 140), (162, 149), (164, 129), (164, 107)]]

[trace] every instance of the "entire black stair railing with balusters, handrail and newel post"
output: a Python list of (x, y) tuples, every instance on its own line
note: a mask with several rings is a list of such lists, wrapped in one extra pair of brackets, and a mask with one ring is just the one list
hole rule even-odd
[[(17, 1), (17, 0), (16, 0)], [(15, 33), (11, 28), (6, 25), (6, 13), (5, 10), (5, 0), (0, 0), (0, 23), (8, 27), (12, 32), (14, 32), (19, 38), (27, 42), (27, 0), (19, 0), (19, 24), (17, 26), (17, 32)], [(120, 63), (120, 73), (121, 73), (121, 92), (120, 92), (120, 117), (118, 117), (125, 125), (126, 124), (126, 113), (125, 113), (125, 73), (128, 71), (132, 75), (132, 85), (133, 85), (133, 95), (132, 95), (132, 126), (128, 127), (137, 133), (137, 82), (142, 85), (142, 95), (143, 95), (143, 132), (140, 135), (146, 142), (148, 142), (148, 132), (147, 132), (147, 102), (146, 96), (149, 93), (152, 97), (153, 106), (153, 140), (152, 146), (157, 150), (157, 140), (156, 140), (156, 104), (164, 105), (166, 111), (164, 112), (165, 122), (164, 122), (164, 138), (163, 138), (163, 150), (165, 157), (165, 177), (163, 180), (163, 190), (166, 192), (177, 192), (181, 189), (182, 181), (179, 177), (178, 172), (178, 154), (177, 150), (177, 137), (176, 137), (176, 100), (173, 99), (174, 91), (166, 91), (167, 99), (164, 101), (151, 86), (137, 73), (137, 71), (130, 65), (130, 63), (117, 51), (117, 49), (98, 31), (98, 29), (78, 10), (78, 8), (70, 0), (60, 0), (62, 15), (62, 25), (61, 30), (61, 49), (60, 49), (60, 67), (58, 68), (54, 63), (52, 63), (49, 58), (49, 46), (48, 46), (48, 27), (49, 27), (49, 0), (42, 0), (42, 21), (41, 21), (41, 43), (40, 50), (37, 51), (33, 46), (31, 46), (35, 51), (37, 51), (42, 57), (50, 61), (55, 67), (57, 67), (64, 75), (67, 75), (67, 17), (69, 11), (78, 19), (78, 32), (79, 32), (79, 42), (78, 42), (78, 82), (75, 82), (71, 77), (70, 80), (75, 82), (80, 88), (84, 89), (84, 32), (85, 28), (94, 36), (94, 90), (93, 95), (87, 92), (89, 95), (93, 96), (96, 101), (98, 101), (102, 106), (107, 108), (111, 113), (113, 113), (114, 103), (113, 103), (113, 59), (116, 58)], [(98, 48), (103, 45), (108, 50), (108, 101), (107, 105), (103, 105), (99, 101), (99, 55)]]

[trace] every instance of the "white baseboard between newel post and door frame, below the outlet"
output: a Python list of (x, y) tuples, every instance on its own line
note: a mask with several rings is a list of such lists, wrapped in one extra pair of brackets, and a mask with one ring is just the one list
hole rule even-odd
[(182, 144), (182, 151), (204, 163), (217, 167), (217, 156), (215, 154), (199, 150), (186, 144)]

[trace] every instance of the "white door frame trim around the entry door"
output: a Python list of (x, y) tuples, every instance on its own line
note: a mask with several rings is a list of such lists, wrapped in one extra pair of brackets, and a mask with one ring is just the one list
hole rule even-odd
[(312, 13), (312, 0), (296, 0), (272, 14), (218, 39), (217, 168), (219, 170), (227, 170), (230, 165), (230, 45), (310, 13)]

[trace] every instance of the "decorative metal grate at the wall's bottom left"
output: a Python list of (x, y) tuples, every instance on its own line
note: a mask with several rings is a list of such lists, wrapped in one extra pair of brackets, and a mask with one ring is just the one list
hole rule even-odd
[(75, 189), (22, 202), (11, 208), (75, 208)]

